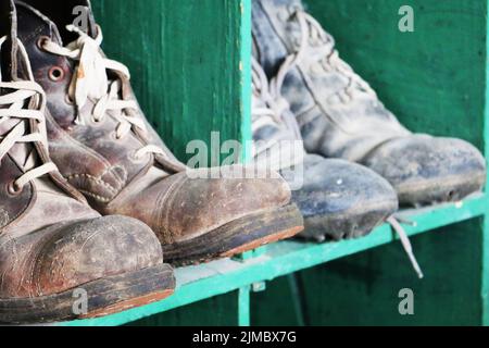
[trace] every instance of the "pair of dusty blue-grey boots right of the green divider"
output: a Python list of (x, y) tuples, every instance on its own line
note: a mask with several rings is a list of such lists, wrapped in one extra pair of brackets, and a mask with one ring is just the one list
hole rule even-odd
[(400, 204), (457, 201), (482, 188), (480, 152), (403, 127), (300, 0), (253, 0), (252, 16), (254, 153), (291, 184), (302, 176), (292, 200), (303, 237), (361, 237)]

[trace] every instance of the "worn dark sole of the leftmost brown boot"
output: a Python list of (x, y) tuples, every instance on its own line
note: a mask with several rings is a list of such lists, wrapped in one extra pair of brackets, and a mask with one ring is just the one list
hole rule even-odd
[[(75, 313), (80, 297), (87, 294), (87, 313)], [(77, 288), (46, 297), (0, 299), (0, 323), (42, 324), (92, 319), (160, 301), (175, 289), (168, 264), (93, 281)]]

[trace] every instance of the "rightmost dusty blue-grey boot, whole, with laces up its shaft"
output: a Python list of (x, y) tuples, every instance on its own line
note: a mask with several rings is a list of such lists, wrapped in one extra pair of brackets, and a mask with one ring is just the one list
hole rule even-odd
[(456, 201), (486, 181), (480, 152), (415, 135), (344, 63), (300, 0), (253, 0), (256, 58), (276, 76), (311, 153), (362, 163), (387, 178), (403, 204)]

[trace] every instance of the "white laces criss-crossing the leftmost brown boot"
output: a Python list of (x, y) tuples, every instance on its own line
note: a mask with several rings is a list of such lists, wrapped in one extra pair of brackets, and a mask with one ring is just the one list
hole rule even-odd
[[(5, 37), (0, 39), (0, 49), (5, 40)], [(24, 47), (21, 42), (18, 45), (21, 52), (25, 54)], [(0, 136), (0, 161), (16, 144), (39, 144), (47, 150), (45, 126), (46, 96), (41, 86), (30, 80), (4, 83), (0, 75), (0, 89), (13, 90), (0, 96), (0, 125), (11, 120), (18, 120), (18, 123), (12, 129)], [(37, 100), (37, 109), (25, 109), (25, 105), (33, 98)], [(39, 124), (38, 133), (28, 133), (29, 129), (26, 127), (26, 124), (30, 120)], [(52, 162), (28, 170), (13, 183), (14, 189), (20, 191), (34, 179), (55, 171), (58, 171), (58, 167)]]

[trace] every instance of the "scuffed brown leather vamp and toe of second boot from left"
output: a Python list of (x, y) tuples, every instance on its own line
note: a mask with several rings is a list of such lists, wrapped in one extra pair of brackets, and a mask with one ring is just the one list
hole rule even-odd
[(283, 179), (189, 178), (179, 173), (135, 184), (106, 206), (104, 213), (137, 217), (152, 227), (163, 244), (171, 244), (289, 201), (290, 190)]

